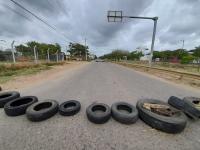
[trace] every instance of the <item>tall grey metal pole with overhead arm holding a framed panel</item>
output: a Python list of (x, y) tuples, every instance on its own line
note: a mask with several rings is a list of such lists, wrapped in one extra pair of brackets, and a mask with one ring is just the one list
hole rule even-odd
[(123, 18), (131, 18), (131, 19), (148, 19), (154, 21), (153, 26), (153, 35), (152, 35), (152, 42), (151, 42), (151, 54), (149, 59), (149, 65), (152, 65), (152, 58), (153, 58), (153, 50), (154, 50), (154, 41), (156, 36), (156, 26), (158, 17), (136, 17), (136, 16), (124, 16), (122, 11), (108, 11), (107, 14), (108, 22), (122, 22)]

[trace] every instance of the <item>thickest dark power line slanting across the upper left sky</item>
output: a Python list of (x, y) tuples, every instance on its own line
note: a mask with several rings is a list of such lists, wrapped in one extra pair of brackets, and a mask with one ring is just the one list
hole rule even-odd
[[(10, 0), (10, 1), (13, 2), (15, 5), (17, 5), (18, 7), (22, 8), (23, 10), (25, 10), (26, 12), (28, 12), (29, 14), (31, 14), (32, 16), (34, 16), (36, 19), (38, 19), (39, 21), (41, 21), (42, 23), (47, 25), (49, 28), (53, 29), (57, 33), (59, 32), (54, 26), (50, 25), (47, 21), (43, 20), (42, 18), (40, 18), (39, 16), (37, 16), (36, 14), (31, 12), (30, 10), (26, 9), (24, 6), (22, 6), (18, 2), (14, 1), (14, 0)], [(62, 33), (59, 33), (59, 34), (62, 35), (64, 38), (68, 39), (64, 34), (62, 34)], [(73, 40), (70, 40), (70, 41), (74, 42)]]

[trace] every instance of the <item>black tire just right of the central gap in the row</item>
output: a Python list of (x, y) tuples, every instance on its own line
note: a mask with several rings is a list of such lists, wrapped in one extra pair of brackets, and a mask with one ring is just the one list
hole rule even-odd
[[(97, 113), (96, 111), (101, 111)], [(111, 109), (103, 103), (93, 103), (86, 109), (88, 119), (96, 124), (106, 123), (111, 117)]]

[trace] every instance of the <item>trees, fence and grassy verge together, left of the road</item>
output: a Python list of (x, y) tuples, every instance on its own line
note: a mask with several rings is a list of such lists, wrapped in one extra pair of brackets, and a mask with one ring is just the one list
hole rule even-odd
[(29, 41), (16, 45), (13, 63), (11, 49), (0, 49), (0, 83), (5, 83), (16, 76), (30, 75), (55, 65), (63, 65), (64, 60), (90, 60), (89, 47), (80, 43), (69, 43), (68, 54), (61, 51), (58, 43), (39, 43)]

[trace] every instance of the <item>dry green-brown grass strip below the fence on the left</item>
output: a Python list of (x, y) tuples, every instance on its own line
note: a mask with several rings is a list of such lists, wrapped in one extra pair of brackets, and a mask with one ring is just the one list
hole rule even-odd
[(0, 64), (0, 83), (6, 83), (16, 76), (36, 74), (42, 70), (51, 69), (55, 65), (64, 63), (43, 63), (43, 64)]

